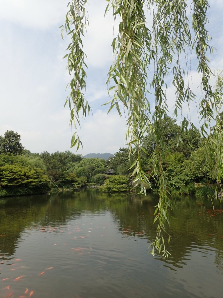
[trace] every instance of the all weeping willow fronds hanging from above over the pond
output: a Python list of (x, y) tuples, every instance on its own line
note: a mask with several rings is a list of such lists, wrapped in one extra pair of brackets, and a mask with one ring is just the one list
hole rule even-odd
[[(132, 164), (134, 183), (135, 186), (141, 186), (141, 193), (145, 193), (146, 187), (150, 187), (150, 181), (141, 165), (141, 154), (145, 151), (142, 139), (153, 124), (156, 142), (151, 155), (151, 175), (159, 189), (160, 200), (155, 215), (158, 227), (152, 253), (154, 254), (156, 248), (159, 252), (162, 251), (164, 257), (168, 257), (168, 252), (165, 250), (161, 231), (165, 232), (165, 223), (169, 224), (168, 210), (172, 206), (167, 191), (168, 181), (162, 166), (166, 145), (160, 123), (160, 119), (168, 116), (167, 76), (172, 75), (175, 88), (174, 114), (176, 117), (180, 114), (183, 130), (187, 130), (189, 126), (194, 129), (189, 111), (190, 103), (197, 100), (187, 79), (190, 69), (187, 62), (190, 60), (187, 59), (188, 53), (194, 52), (197, 58), (195, 68), (197, 67), (201, 78), (202, 97), (199, 114), (202, 118), (201, 133), (204, 137), (208, 136), (207, 128), (211, 128), (214, 111), (219, 111), (223, 105), (222, 77), (218, 77), (215, 89), (210, 84), (213, 73), (208, 64), (208, 52), (212, 52), (213, 48), (209, 45), (210, 37), (205, 27), (208, 23), (208, 0), (192, 0), (190, 18), (187, 13), (188, 3), (190, 2), (187, 0), (108, 0), (106, 8), (106, 11), (113, 11), (114, 21), (119, 22), (118, 35), (113, 37), (112, 41), (114, 59), (107, 80), (112, 97), (109, 101), (109, 111), (116, 107), (121, 115), (121, 107), (124, 107), (127, 119), (126, 138), (130, 139), (129, 150), (137, 156)], [(86, 57), (81, 38), (88, 24), (86, 5), (87, 0), (71, 0), (65, 24), (62, 26), (62, 31), (65, 28), (71, 38), (65, 57), (72, 79), (68, 85), (70, 94), (65, 104), (68, 103), (71, 109), (70, 125), (73, 123), (75, 127), (76, 123), (80, 123), (79, 114), (85, 117), (90, 111), (83, 93), (86, 87)], [(146, 13), (149, 14), (151, 29), (147, 26)], [(185, 66), (184, 69), (182, 66)], [(151, 80), (148, 85), (149, 76)], [(150, 109), (148, 95), (155, 101), (153, 111)], [(183, 110), (184, 103), (188, 105), (188, 109)], [(182, 142), (182, 138), (179, 137), (179, 141)], [(208, 139), (209, 155), (216, 160), (217, 181), (221, 181), (223, 177), (220, 143), (223, 143), (223, 134), (216, 133)], [(77, 131), (73, 134), (71, 147), (76, 144), (77, 147), (82, 145)]]

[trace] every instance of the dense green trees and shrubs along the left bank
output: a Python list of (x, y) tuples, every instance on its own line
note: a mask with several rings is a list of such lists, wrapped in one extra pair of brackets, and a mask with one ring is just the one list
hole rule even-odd
[[(82, 158), (70, 151), (31, 153), (17, 150), (13, 131), (5, 133), (8, 151), (0, 153), (0, 197), (45, 193), (50, 189), (78, 189), (86, 184), (103, 184), (106, 161)], [(10, 139), (9, 136), (15, 136)], [(1, 145), (4, 143), (1, 137)], [(2, 147), (3, 148), (3, 147)], [(23, 148), (19, 143), (17, 148)], [(14, 150), (14, 151), (13, 151)], [(21, 153), (21, 154), (19, 154)]]

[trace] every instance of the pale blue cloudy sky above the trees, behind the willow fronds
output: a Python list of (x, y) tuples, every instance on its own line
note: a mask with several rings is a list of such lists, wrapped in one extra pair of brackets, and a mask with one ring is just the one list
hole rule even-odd
[[(59, 27), (64, 23), (68, 0), (0, 0), (0, 135), (13, 130), (31, 152), (70, 150), (73, 131), (69, 128), (70, 111), (64, 108), (66, 85), (70, 78), (62, 57), (68, 40), (63, 40)], [(86, 99), (92, 114), (81, 120), (78, 134), (83, 149), (78, 154), (115, 153), (125, 146), (125, 118), (116, 110), (107, 115), (110, 98), (107, 73), (112, 63), (113, 16), (104, 17), (105, 0), (89, 0), (89, 28), (84, 38), (87, 54)], [(208, 30), (211, 45), (211, 69), (223, 69), (223, 1), (209, 1)], [(117, 27), (115, 27), (117, 31)], [(193, 58), (192, 58), (193, 59)], [(199, 75), (192, 60), (191, 81), (199, 97)], [(175, 91), (167, 91), (169, 112), (173, 111)], [(154, 108), (151, 99), (152, 110)], [(198, 125), (197, 109), (191, 106), (191, 119)]]

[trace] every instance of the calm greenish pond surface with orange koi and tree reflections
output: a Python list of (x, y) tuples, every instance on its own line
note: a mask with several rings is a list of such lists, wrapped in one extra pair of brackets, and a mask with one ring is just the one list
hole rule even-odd
[(97, 190), (0, 200), (0, 298), (223, 297), (223, 202), (173, 201), (169, 260), (149, 245), (157, 198)]

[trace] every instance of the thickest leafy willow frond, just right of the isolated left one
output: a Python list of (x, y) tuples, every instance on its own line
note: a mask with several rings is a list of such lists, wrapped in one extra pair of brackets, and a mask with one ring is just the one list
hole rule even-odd
[[(146, 17), (142, 1), (110, 1), (115, 18), (121, 18), (119, 33), (113, 39), (112, 49), (115, 57), (109, 70), (107, 84), (113, 85), (111, 107), (116, 107), (119, 114), (127, 113), (126, 139), (130, 139), (129, 152), (137, 152), (134, 185), (141, 185), (140, 193), (146, 192), (150, 182), (142, 170), (140, 153), (141, 140), (151, 125), (150, 103), (147, 100), (147, 50), (151, 44), (151, 33), (146, 27)], [(134, 150), (132, 150), (134, 148)]]

